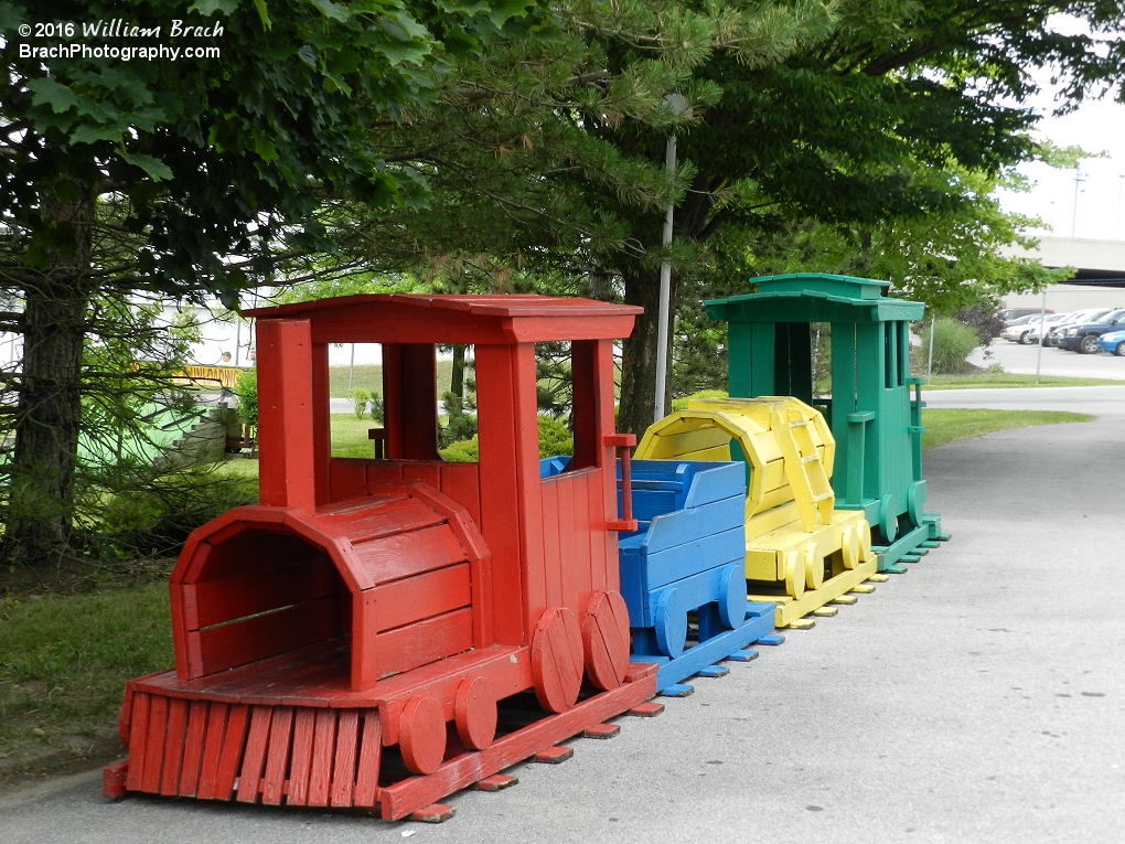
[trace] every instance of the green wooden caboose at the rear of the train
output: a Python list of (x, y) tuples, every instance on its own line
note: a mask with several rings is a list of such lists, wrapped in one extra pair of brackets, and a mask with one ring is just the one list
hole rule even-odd
[[(791, 395), (824, 410), (836, 438), (836, 506), (863, 510), (879, 571), (947, 538), (924, 512), (921, 379), (910, 377), (908, 323), (925, 306), (886, 281), (802, 272), (750, 279), (755, 293), (704, 303), (728, 324), (731, 397)], [(814, 395), (810, 325), (828, 323), (831, 384)], [(821, 385), (822, 387), (822, 385)]]

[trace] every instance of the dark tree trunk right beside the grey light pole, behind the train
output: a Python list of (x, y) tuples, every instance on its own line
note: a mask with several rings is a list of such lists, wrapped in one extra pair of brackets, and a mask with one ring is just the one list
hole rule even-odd
[[(630, 268), (631, 269), (631, 268)], [(660, 273), (636, 268), (624, 273), (626, 304), (640, 305), (632, 333), (621, 350), (621, 402), (618, 430), (641, 436), (652, 424), (656, 413), (656, 347), (660, 321)], [(670, 302), (676, 300), (676, 278), (672, 277)], [(668, 332), (668, 366), (672, 366), (672, 332)], [(668, 396), (665, 395), (665, 407)]]

